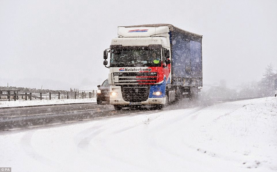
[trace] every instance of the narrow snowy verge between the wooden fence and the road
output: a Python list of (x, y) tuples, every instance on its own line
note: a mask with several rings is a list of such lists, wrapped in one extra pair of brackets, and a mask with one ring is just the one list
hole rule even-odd
[(36, 106), (50, 104), (70, 104), (70, 103), (91, 103), (96, 102), (96, 98), (86, 99), (52, 99), (52, 100), (16, 100), (16, 101), (0, 101), (0, 108), (18, 107), (18, 106)]

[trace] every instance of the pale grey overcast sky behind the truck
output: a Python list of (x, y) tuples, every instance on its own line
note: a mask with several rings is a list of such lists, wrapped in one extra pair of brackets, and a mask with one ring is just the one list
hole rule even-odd
[(156, 23), (203, 35), (203, 87), (277, 68), (276, 0), (0, 0), (0, 86), (96, 89), (117, 26)]

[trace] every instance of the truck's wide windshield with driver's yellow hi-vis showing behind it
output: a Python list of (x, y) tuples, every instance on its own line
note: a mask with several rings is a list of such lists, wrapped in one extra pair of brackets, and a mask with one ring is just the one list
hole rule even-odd
[(161, 66), (161, 49), (111, 49), (110, 66)]

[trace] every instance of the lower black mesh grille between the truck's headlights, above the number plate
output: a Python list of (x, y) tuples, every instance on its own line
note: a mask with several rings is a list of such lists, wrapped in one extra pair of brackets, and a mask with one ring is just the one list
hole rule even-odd
[(149, 97), (149, 86), (121, 86), (123, 99), (127, 102), (143, 102)]

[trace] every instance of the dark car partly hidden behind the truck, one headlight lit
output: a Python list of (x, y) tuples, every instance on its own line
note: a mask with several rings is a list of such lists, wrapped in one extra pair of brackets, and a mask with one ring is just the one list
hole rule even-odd
[(102, 85), (97, 85), (98, 89), (96, 92), (96, 102), (97, 104), (102, 104), (102, 102), (110, 103), (110, 85), (108, 79), (106, 79)]

